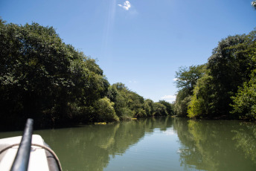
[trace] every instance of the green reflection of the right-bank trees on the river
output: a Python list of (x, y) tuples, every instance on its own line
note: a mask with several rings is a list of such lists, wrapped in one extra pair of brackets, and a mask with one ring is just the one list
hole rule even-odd
[[(256, 167), (252, 162), (256, 134), (255, 127), (250, 128), (251, 132), (243, 124), (230, 120), (175, 118), (173, 129), (182, 144), (178, 151), (181, 165), (185, 170), (252, 170)], [(252, 155), (254, 158), (246, 158)]]

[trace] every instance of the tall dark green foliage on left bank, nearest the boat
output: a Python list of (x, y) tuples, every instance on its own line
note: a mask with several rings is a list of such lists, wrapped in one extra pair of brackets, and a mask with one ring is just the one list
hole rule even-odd
[(71, 123), (109, 87), (95, 59), (65, 45), (52, 27), (1, 20), (0, 48), (1, 126), (23, 126), (27, 117), (41, 126)]

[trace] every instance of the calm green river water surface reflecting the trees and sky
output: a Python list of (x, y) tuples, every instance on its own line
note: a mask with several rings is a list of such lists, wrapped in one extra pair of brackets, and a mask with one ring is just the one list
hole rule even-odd
[(155, 117), (34, 134), (63, 170), (256, 170), (255, 123)]

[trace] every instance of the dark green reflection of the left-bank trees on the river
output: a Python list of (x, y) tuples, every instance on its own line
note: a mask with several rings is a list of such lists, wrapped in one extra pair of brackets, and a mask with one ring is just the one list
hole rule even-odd
[(109, 125), (37, 131), (57, 152), (64, 170), (103, 170), (110, 156), (122, 155), (153, 129), (166, 130), (170, 117), (145, 118)]

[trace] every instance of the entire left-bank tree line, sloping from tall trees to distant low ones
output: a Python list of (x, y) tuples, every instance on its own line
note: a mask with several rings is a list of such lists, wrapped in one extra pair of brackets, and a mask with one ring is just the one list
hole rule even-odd
[(173, 114), (170, 103), (110, 85), (95, 59), (66, 45), (52, 27), (0, 19), (0, 127), (109, 122)]

